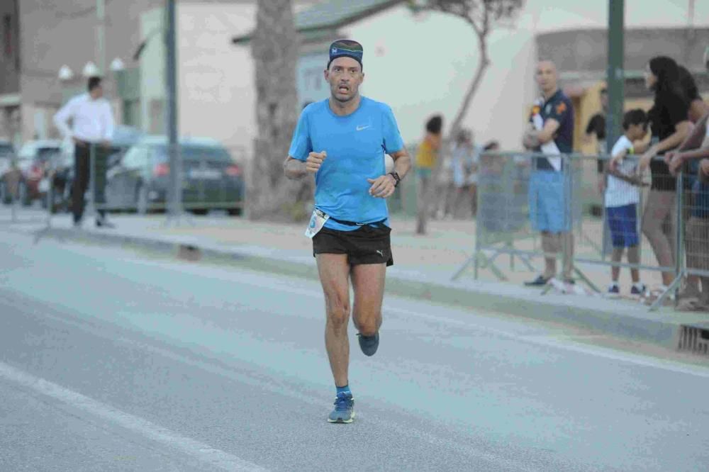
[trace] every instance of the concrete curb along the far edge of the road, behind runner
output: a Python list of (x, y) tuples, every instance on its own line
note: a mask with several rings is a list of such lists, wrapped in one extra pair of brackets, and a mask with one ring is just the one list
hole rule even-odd
[[(173, 257), (195, 261), (208, 259), (228, 263), (242, 269), (267, 271), (286, 276), (318, 280), (314, 259), (277, 257), (249, 249), (224, 248), (196, 241), (190, 237), (157, 238), (121, 235), (111, 232), (62, 228), (42, 230), (39, 237), (77, 242), (100, 242), (107, 245), (149, 249)], [(393, 273), (392, 273), (393, 272)], [(658, 310), (650, 313), (644, 305), (620, 300), (593, 298), (593, 306), (579, 305), (579, 298), (520, 291), (503, 283), (474, 281), (469, 283), (422, 280), (423, 276), (390, 269), (386, 292), (391, 295), (454, 305), (457, 308), (486, 310), (507, 315), (558, 322), (615, 337), (657, 344), (677, 349), (683, 327), (709, 330), (709, 319), (696, 313), (675, 313)], [(622, 303), (622, 304), (621, 304)]]

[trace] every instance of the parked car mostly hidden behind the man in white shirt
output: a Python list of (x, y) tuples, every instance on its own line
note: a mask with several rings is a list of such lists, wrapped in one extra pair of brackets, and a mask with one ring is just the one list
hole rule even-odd
[[(145, 133), (132, 126), (119, 125), (113, 132), (111, 150), (108, 157), (108, 169), (121, 162), (121, 158), (130, 146), (145, 137)], [(54, 186), (54, 205), (52, 213), (70, 210), (72, 206), (72, 186), (74, 184), (74, 143), (67, 140), (62, 148), (62, 156), (52, 172)]]

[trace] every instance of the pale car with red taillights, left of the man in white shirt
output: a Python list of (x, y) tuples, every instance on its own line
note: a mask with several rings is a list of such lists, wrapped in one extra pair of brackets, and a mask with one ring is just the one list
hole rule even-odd
[[(29, 206), (38, 198), (43, 198), (48, 186), (40, 184), (45, 172), (51, 167), (52, 161), (59, 157), (61, 151), (62, 143), (57, 140), (26, 142), (17, 153), (14, 164), (3, 176), (4, 188), (9, 190), (9, 194), (16, 195), (25, 206)], [(5, 200), (5, 203), (10, 202)]]

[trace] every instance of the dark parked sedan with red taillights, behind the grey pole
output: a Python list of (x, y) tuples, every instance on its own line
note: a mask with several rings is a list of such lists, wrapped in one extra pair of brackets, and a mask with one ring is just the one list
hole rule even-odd
[[(146, 137), (125, 152), (108, 171), (108, 208), (164, 210), (169, 189), (167, 138)], [(241, 167), (220, 142), (208, 138), (184, 138), (179, 142), (182, 156), (182, 203), (192, 213), (227, 210), (240, 215), (244, 199)]]

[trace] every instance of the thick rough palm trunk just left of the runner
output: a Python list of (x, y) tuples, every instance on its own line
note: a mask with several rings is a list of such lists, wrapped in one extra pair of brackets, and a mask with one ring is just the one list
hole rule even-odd
[[(298, 120), (296, 33), (291, 0), (257, 2), (252, 56), (256, 66), (257, 137), (248, 169), (247, 214), (250, 219), (303, 220), (312, 179), (291, 181), (283, 173)], [(298, 198), (301, 196), (301, 198)]]

